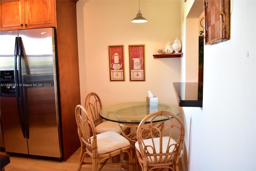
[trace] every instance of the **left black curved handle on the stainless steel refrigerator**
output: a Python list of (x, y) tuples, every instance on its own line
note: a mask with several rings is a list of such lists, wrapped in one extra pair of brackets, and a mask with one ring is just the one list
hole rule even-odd
[[(26, 138), (26, 132), (25, 132), (25, 127), (24, 127), (24, 122), (23, 122), (23, 118), (22, 118), (22, 110), (21, 110), (21, 105), (20, 105), (20, 82), (19, 82), (19, 71), (20, 69), (18, 70), (17, 69), (17, 58), (18, 58), (18, 63), (19, 63), (19, 43), (18, 43), (18, 37), (15, 38), (15, 50), (14, 50), (14, 84), (16, 85), (15, 86), (15, 94), (16, 94), (16, 102), (17, 102), (17, 107), (18, 107), (18, 115), (19, 115), (19, 119), (20, 119), (20, 127), (22, 129), (22, 134), (23, 134), (23, 137)], [(19, 64), (18, 64), (19, 65)]]

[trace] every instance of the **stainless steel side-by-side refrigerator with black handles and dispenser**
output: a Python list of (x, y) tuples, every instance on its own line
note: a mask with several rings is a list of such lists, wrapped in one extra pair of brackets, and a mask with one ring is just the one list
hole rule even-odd
[(6, 152), (62, 159), (54, 31), (0, 32), (0, 113)]

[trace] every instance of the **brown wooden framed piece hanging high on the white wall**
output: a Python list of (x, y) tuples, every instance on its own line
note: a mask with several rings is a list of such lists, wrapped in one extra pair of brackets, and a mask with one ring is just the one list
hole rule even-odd
[(204, 44), (230, 40), (230, 0), (204, 0)]

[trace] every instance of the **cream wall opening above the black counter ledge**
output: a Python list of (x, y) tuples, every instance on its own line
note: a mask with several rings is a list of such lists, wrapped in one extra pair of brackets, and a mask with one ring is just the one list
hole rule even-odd
[(198, 29), (203, 0), (180, 1), (182, 7), (182, 42), (184, 58), (181, 60), (181, 81), (198, 82)]

